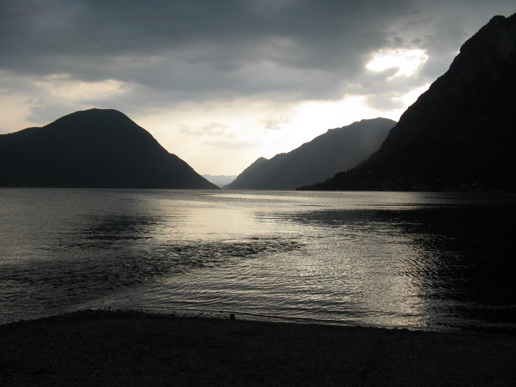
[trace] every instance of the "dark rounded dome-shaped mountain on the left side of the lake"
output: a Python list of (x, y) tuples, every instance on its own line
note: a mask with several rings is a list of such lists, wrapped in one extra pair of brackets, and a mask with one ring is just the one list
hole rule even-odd
[(218, 188), (111, 109), (0, 135), (0, 186)]

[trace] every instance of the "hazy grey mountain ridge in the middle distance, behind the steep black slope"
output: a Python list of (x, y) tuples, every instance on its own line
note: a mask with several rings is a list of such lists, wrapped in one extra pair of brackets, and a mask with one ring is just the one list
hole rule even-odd
[(223, 188), (294, 189), (327, 179), (376, 151), (395, 124), (375, 118), (330, 129), (291, 152), (260, 157)]

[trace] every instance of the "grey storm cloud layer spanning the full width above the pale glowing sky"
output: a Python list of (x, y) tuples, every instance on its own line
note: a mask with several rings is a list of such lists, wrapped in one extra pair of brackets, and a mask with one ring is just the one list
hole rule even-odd
[[(56, 117), (58, 106), (135, 111), (250, 95), (294, 102), (369, 95), (388, 108), (389, 93), (432, 82), (494, 13), (514, 8), (506, 0), (4, 0), (0, 7), (0, 71), (20, 89), (24, 76), (39, 82), (52, 74), (130, 85), (67, 106), (33, 88), (31, 119), (39, 122)], [(392, 77), (396, 69), (366, 71), (380, 49), (422, 49), (429, 59), (410, 79)]]

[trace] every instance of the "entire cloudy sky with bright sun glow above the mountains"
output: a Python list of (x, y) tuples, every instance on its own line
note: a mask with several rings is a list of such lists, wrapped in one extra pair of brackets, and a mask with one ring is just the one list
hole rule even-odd
[(398, 120), (514, 0), (0, 0), (0, 134), (110, 108), (201, 174)]

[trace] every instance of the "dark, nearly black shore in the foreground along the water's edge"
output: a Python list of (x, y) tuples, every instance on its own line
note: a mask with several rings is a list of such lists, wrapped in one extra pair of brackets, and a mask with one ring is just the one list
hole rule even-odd
[(2, 386), (509, 386), (516, 336), (85, 311), (0, 326)]

